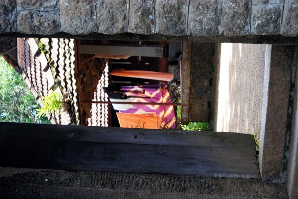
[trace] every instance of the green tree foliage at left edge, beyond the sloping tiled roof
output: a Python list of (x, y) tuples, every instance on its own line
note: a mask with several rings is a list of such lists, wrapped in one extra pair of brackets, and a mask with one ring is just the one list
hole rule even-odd
[(39, 107), (22, 76), (0, 56), (0, 121), (50, 123), (47, 117), (37, 117)]

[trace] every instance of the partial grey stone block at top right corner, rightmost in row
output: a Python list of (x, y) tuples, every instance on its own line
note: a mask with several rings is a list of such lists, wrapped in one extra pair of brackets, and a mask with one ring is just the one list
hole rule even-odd
[(298, 36), (298, 1), (285, 0), (283, 24), (281, 34), (284, 36)]

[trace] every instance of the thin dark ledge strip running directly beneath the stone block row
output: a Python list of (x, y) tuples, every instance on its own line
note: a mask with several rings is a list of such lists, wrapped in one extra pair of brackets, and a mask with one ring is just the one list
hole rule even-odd
[(248, 36), (169, 36), (161, 34), (133, 34), (120, 33), (115, 35), (105, 35), (100, 33), (90, 33), (87, 35), (72, 35), (59, 32), (53, 35), (23, 34), (23, 33), (3, 33), (0, 37), (17, 38), (68, 38), (83, 40), (119, 40), (119, 41), (171, 41), (171, 42), (198, 42), (198, 43), (243, 43), (243, 44), (278, 44), (278, 45), (298, 45), (298, 37), (285, 37), (282, 35), (248, 35)]

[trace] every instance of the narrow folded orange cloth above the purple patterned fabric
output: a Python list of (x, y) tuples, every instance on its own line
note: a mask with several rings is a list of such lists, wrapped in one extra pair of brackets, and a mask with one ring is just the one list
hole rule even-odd
[(111, 72), (111, 75), (121, 76), (121, 77), (133, 77), (141, 79), (159, 80), (170, 82), (174, 75), (172, 73), (162, 73), (147, 70), (119, 70)]

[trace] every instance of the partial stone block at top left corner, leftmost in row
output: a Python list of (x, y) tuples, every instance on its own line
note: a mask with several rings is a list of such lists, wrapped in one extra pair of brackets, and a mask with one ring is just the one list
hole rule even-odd
[(0, 33), (16, 32), (16, 6), (14, 0), (0, 1)]

